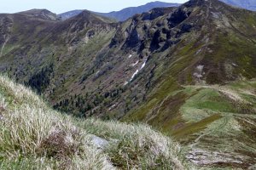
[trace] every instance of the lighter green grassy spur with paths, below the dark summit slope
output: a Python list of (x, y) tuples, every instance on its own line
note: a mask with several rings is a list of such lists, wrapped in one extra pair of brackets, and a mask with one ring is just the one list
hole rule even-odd
[[(133, 114), (188, 146), (194, 162), (247, 168), (256, 163), (255, 85), (241, 81), (183, 86), (160, 103), (149, 102), (154, 106), (145, 116), (142, 108)], [(135, 116), (126, 116), (125, 121)]]

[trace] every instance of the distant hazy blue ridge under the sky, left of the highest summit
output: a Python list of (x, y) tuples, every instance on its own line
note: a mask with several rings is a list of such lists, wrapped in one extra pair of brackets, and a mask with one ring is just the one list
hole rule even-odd
[[(119, 21), (124, 21), (130, 18), (131, 16), (135, 14), (142, 14), (144, 12), (148, 12), (152, 8), (163, 8), (163, 7), (177, 7), (179, 4), (178, 3), (164, 3), (164, 2), (152, 2), (152, 3), (147, 3), (142, 6), (138, 7), (130, 7), (130, 8), (124, 8), (120, 11), (113, 11), (110, 13), (96, 13), (108, 18), (112, 18), (114, 20), (119, 20)], [(67, 20), (77, 14), (80, 14), (83, 10), (73, 10), (69, 11), (63, 14), (59, 14), (62, 20)]]

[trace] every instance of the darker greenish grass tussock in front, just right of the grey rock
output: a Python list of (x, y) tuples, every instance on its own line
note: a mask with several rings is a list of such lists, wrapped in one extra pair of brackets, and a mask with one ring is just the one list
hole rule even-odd
[(132, 134), (113, 144), (108, 154), (113, 165), (121, 169), (183, 169), (183, 165), (168, 154), (171, 150), (166, 149), (156, 145), (148, 136)]

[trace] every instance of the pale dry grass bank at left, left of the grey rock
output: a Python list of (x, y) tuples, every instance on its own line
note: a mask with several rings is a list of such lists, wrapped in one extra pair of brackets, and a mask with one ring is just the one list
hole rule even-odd
[(0, 77), (0, 169), (111, 169), (71, 117), (45, 105), (32, 91)]

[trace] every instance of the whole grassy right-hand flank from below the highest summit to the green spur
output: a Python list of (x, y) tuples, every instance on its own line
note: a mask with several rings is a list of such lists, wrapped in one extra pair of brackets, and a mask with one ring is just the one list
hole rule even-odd
[[(256, 72), (255, 14), (231, 12), (237, 19), (230, 22), (234, 26), (225, 26), (224, 18), (214, 20), (219, 26), (216, 30), (213, 22), (208, 23), (211, 29), (202, 29), (197, 41), (190, 34), (171, 50), (172, 63), (160, 70), (168, 76), (162, 76), (144, 104), (123, 120), (148, 122), (174, 136), (189, 145), (190, 159), (199, 164), (247, 168), (256, 163), (255, 81), (246, 80)], [(241, 22), (243, 15), (247, 20)], [(206, 74), (201, 79), (207, 83), (230, 83), (218, 87), (203, 86), (205, 82), (200, 81), (186, 86), (195, 83), (196, 65), (204, 65)]]

